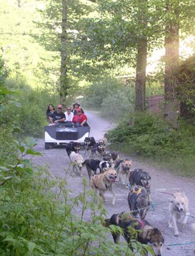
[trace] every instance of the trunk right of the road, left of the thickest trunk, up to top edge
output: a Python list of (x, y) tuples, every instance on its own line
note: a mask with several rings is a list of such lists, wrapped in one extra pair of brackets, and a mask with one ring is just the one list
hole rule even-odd
[(136, 81), (135, 81), (135, 109), (145, 110), (146, 95), (146, 65), (147, 65), (147, 38), (144, 36), (147, 28), (146, 13), (148, 11), (148, 0), (139, 0), (139, 25), (142, 29), (143, 37), (138, 42)]

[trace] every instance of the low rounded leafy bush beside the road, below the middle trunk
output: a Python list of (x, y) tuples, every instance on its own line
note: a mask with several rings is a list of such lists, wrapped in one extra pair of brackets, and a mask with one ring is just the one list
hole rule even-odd
[(179, 139), (179, 134), (171, 129), (163, 119), (149, 114), (136, 113), (134, 122), (134, 125), (122, 122), (108, 132), (108, 139), (112, 143), (125, 143), (130, 151), (148, 156), (172, 154), (172, 145), (176, 146), (176, 150), (179, 149), (175, 144)]

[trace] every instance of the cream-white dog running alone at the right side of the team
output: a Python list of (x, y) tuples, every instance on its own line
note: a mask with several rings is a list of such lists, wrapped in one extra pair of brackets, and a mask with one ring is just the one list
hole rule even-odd
[(170, 220), (169, 220), (169, 228), (173, 228), (174, 235), (178, 237), (179, 232), (177, 229), (176, 220), (184, 216), (182, 225), (186, 225), (188, 216), (190, 214), (189, 211), (189, 200), (187, 199), (184, 192), (175, 192), (172, 197), (172, 201), (170, 201), (169, 205), (170, 210)]

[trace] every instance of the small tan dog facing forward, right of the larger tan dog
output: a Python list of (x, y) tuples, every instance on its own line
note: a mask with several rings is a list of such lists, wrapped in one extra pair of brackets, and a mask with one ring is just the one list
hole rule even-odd
[(117, 162), (117, 164), (115, 165), (115, 169), (118, 170), (119, 181), (124, 182), (123, 175), (126, 175), (126, 182), (128, 182), (129, 174), (131, 172), (130, 171), (131, 166), (132, 166), (132, 161), (128, 159), (124, 159)]

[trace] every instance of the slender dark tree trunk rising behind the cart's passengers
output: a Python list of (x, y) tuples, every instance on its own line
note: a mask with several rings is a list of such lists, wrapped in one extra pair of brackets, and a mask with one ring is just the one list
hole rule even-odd
[(60, 67), (60, 101), (63, 102), (68, 95), (69, 80), (67, 78), (67, 0), (62, 0), (61, 23), (61, 67)]

